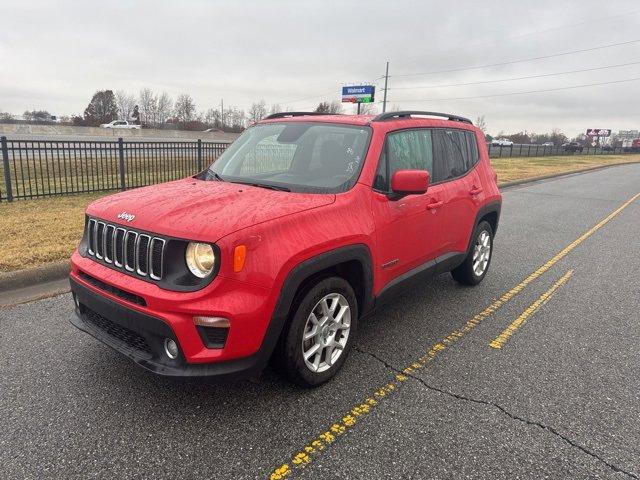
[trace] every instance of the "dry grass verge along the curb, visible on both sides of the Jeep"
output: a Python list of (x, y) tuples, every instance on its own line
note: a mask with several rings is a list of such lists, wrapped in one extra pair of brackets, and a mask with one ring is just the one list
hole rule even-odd
[[(640, 155), (491, 160), (499, 182), (629, 162), (640, 162)], [(0, 203), (0, 272), (68, 259), (82, 235), (85, 207), (103, 195), (106, 193)]]

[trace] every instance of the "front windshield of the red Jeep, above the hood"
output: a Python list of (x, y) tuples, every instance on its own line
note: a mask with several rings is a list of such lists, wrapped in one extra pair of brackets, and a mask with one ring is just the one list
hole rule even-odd
[(344, 192), (358, 179), (370, 136), (365, 126), (256, 125), (225, 150), (203, 179), (292, 192)]

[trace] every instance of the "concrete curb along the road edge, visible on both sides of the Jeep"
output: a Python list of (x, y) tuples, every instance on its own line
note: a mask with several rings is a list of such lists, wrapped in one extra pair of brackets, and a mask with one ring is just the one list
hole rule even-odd
[[(592, 172), (594, 170), (602, 170), (604, 168), (619, 167), (622, 165), (633, 165), (640, 162), (628, 162), (617, 163), (613, 165), (600, 165), (598, 167), (589, 167), (583, 170), (574, 170), (573, 172), (561, 172), (552, 173), (550, 175), (541, 175), (539, 177), (525, 178), (522, 180), (513, 180), (510, 182), (503, 182), (498, 184), (498, 188), (503, 190), (509, 187), (515, 187), (518, 185), (524, 185), (527, 183), (534, 183), (541, 180), (549, 180), (552, 178), (566, 177), (569, 175), (578, 175), (580, 173)], [(70, 265), (69, 260), (62, 260), (60, 262), (53, 262), (43, 265), (41, 267), (33, 267), (26, 270), (16, 270), (14, 272), (0, 272), (0, 292), (7, 292), (10, 290), (18, 290), (24, 287), (31, 287), (34, 285), (51, 282), (54, 280), (62, 280), (69, 275)]]

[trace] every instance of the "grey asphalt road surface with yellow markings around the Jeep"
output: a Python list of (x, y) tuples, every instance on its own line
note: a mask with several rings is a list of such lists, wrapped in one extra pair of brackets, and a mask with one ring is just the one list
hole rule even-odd
[(407, 291), (315, 390), (156, 377), (69, 295), (0, 310), (0, 477), (639, 478), (639, 192), (640, 165), (505, 190), (485, 281)]

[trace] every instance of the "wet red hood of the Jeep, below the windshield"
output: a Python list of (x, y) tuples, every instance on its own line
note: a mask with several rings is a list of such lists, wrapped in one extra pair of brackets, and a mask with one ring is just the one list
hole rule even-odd
[[(333, 194), (290, 193), (193, 178), (96, 200), (87, 215), (189, 240), (216, 240), (258, 223), (331, 204)], [(125, 219), (134, 216), (127, 222)]]

